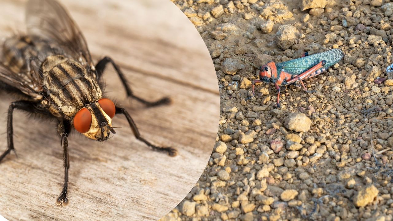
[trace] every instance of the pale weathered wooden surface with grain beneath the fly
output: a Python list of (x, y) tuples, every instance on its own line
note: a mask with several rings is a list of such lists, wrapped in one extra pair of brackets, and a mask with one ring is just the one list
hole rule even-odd
[[(25, 0), (0, 2), (2, 37), (23, 33)], [(210, 157), (219, 121), (217, 78), (198, 31), (169, 0), (63, 0), (83, 30), (94, 60), (109, 55), (134, 92), (173, 104), (147, 109), (130, 101), (113, 68), (104, 74), (109, 98), (125, 106), (141, 134), (179, 150), (151, 151), (123, 116), (105, 143), (72, 133), (70, 205), (55, 205), (63, 182), (56, 123), (14, 112), (14, 154), (0, 163), (0, 214), (9, 220), (157, 220), (194, 186)], [(6, 111), (17, 99), (0, 93), (0, 151), (6, 150)]]

